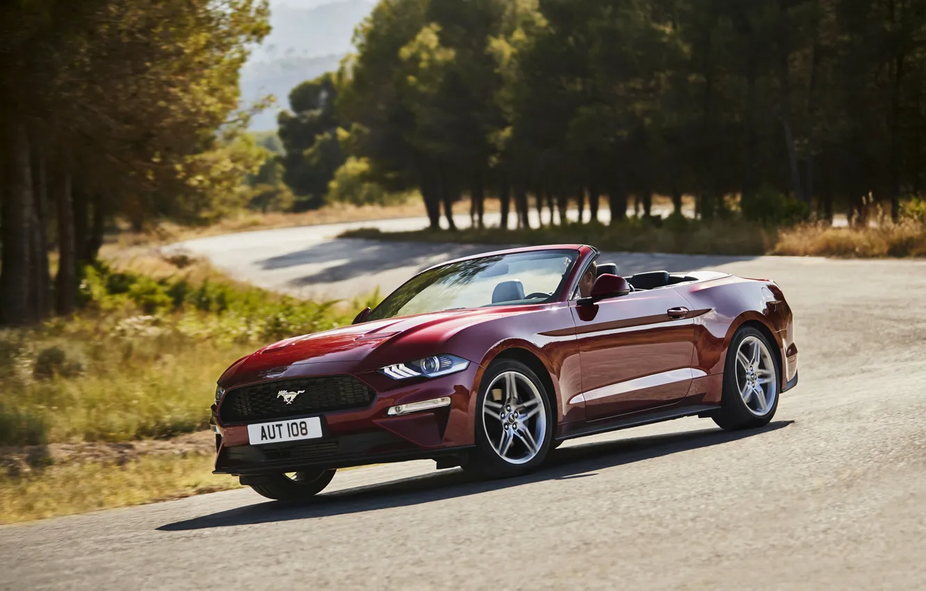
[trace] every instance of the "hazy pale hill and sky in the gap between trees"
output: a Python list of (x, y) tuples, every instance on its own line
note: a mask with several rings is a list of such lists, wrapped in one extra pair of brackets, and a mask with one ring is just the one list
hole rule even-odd
[(282, 0), (270, 3), (272, 30), (241, 71), (245, 104), (274, 94), (277, 105), (251, 120), (251, 130), (272, 130), (277, 112), (299, 82), (337, 69), (352, 51), (354, 29), (369, 15), (373, 0)]

